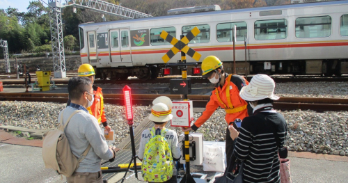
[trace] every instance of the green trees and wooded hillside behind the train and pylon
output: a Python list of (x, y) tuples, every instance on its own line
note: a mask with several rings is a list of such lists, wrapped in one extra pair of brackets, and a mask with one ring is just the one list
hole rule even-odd
[[(172, 8), (183, 8), (190, 6), (206, 6), (218, 4), (223, 10), (232, 8), (251, 8), (259, 6), (277, 6), (290, 3), (290, 0), (103, 0), (109, 3), (138, 10), (152, 16), (167, 14)], [(19, 12), (17, 8), (0, 9), (0, 38), (8, 41), (9, 54), (20, 54), (23, 52), (45, 52), (51, 51), (51, 33), (49, 29), (49, 8), (42, 6), (38, 0), (30, 1), (28, 12)], [(106, 21), (120, 19), (113, 15), (106, 15)], [(79, 46), (79, 24), (86, 22), (102, 22), (101, 13), (92, 10), (77, 8), (73, 13), (72, 7), (62, 9), (63, 35), (65, 54), (70, 53)], [(20, 23), (19, 23), (20, 22)], [(0, 51), (1, 52), (1, 51)], [(2, 53), (0, 53), (1, 55)], [(35, 54), (31, 54), (34, 56)], [(38, 54), (40, 55), (40, 54)], [(44, 55), (45, 56), (45, 55)]]

